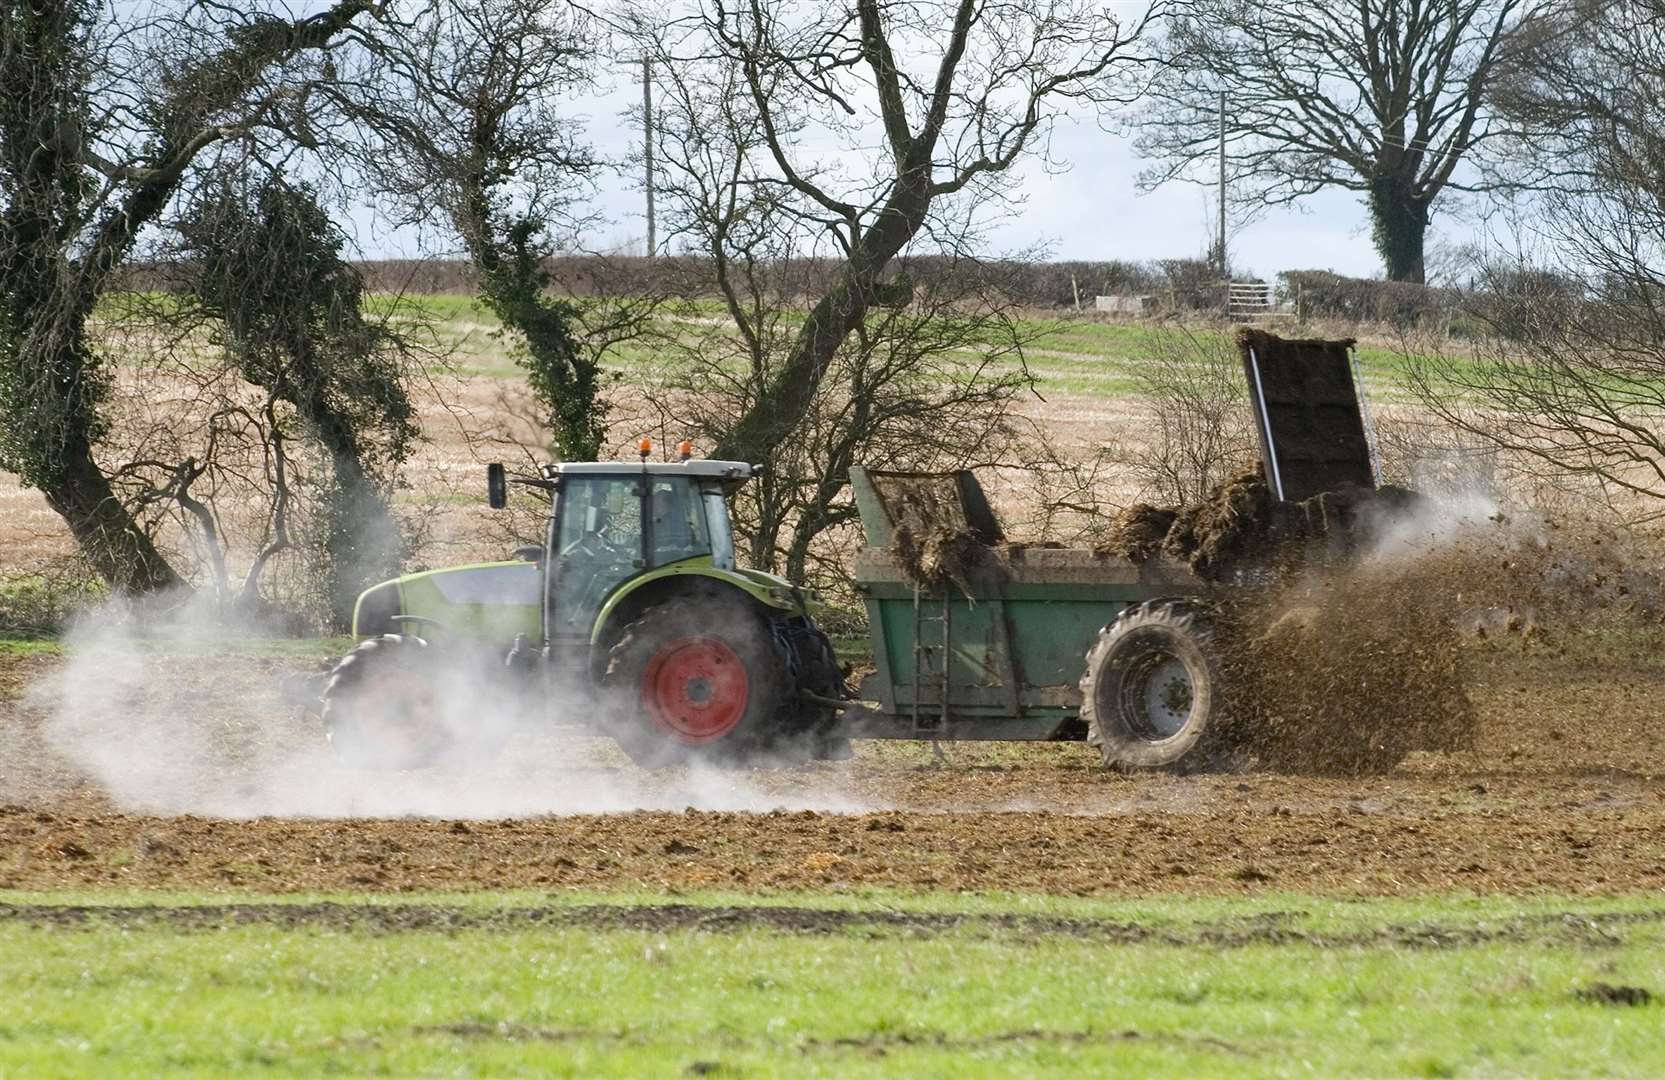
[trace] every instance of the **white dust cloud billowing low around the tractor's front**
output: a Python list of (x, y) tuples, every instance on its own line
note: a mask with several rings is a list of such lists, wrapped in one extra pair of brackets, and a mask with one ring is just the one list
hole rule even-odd
[(866, 809), (828, 777), (798, 794), (768, 770), (636, 769), (583, 727), (588, 706), (528, 721), (490, 669), (446, 677), (438, 694), (443, 722), (495, 734), (486, 742), (501, 744), (496, 754), (448, 754), (408, 770), (348, 765), (320, 717), (286, 701), (285, 682), (321, 672), (285, 647), (195, 599), (88, 612), (65, 637), (63, 661), (27, 689), (27, 722), (7, 726), (0, 804), (77, 794), (123, 812), (220, 819)]

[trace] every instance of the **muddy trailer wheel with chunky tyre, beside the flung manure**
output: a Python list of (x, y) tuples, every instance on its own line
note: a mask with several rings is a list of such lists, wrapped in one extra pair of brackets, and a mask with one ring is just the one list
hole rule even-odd
[(1187, 601), (1127, 607), (1087, 652), (1081, 717), (1106, 765), (1217, 765), (1225, 749), (1222, 706), (1214, 636)]

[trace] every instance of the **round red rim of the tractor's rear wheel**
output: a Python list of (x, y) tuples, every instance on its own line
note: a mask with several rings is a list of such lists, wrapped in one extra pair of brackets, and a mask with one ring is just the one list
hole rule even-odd
[(678, 637), (648, 662), (641, 699), (653, 722), (683, 742), (714, 742), (746, 716), (751, 681), (728, 642)]

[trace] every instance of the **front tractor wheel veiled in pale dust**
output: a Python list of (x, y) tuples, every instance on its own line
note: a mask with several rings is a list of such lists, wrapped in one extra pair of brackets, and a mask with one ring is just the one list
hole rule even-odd
[[(470, 765), (496, 756), (513, 726), (501, 669), (440, 656), (421, 637), (360, 642), (330, 672), (325, 736), (358, 769)], [(486, 696), (503, 706), (481, 707)]]

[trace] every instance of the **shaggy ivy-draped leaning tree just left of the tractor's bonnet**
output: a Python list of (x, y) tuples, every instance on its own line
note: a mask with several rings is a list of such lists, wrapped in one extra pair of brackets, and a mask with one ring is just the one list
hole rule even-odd
[(215, 344), (266, 394), (266, 414), (273, 404), (293, 411), (298, 431), (275, 416), (263, 431), (275, 481), (286, 436), (323, 451), (316, 569), (333, 624), (346, 627), (358, 594), (405, 557), (390, 498), (418, 438), (406, 393), (413, 349), (391, 321), (366, 315), (363, 278), (341, 256), (346, 236), (308, 186), (233, 171), (193, 201), (180, 233), (185, 280), (163, 318), (211, 320)]

